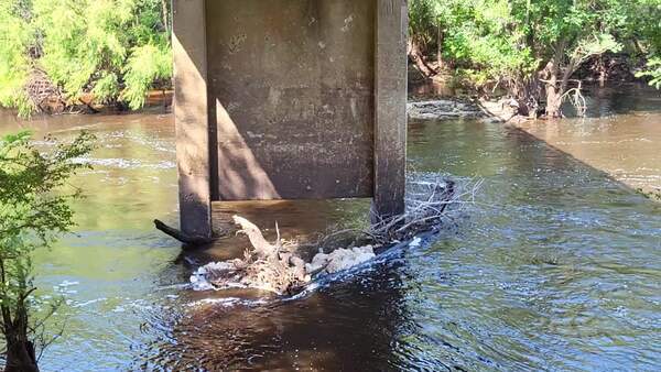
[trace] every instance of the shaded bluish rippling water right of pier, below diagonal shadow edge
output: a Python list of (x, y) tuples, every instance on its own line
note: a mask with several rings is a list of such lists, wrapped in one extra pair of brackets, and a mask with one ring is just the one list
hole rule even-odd
[(441, 266), (408, 260), (419, 277), (460, 280), (431, 283), (446, 311), (423, 314), (440, 338), (496, 361), (469, 369), (654, 364), (660, 206), (519, 129), (426, 122), (410, 138), (419, 167), (487, 177), (470, 232), (434, 245)]

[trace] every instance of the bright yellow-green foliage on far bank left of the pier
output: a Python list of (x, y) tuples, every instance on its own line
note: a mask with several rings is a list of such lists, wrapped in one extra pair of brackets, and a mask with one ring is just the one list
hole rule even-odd
[(0, 0), (0, 105), (28, 102), (25, 84), (37, 68), (69, 102), (91, 92), (98, 102), (142, 107), (153, 84), (172, 76), (164, 66), (171, 55), (167, 3)]

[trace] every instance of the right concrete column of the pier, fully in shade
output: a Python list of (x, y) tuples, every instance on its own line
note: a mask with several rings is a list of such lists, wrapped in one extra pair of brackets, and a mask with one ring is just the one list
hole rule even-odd
[(404, 211), (408, 22), (407, 0), (377, 0), (373, 211), (380, 217)]

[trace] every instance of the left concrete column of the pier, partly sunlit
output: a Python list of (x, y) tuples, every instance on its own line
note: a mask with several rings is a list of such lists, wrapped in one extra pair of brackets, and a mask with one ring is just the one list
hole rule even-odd
[(205, 0), (173, 1), (172, 48), (181, 230), (210, 238)]

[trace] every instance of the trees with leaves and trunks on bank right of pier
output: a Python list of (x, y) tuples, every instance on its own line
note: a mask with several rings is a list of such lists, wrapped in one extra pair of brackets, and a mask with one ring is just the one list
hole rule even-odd
[(409, 57), (425, 76), (451, 67), (483, 89), (505, 89), (524, 116), (581, 107), (587, 61), (622, 53), (648, 62), (661, 86), (661, 0), (410, 0)]

